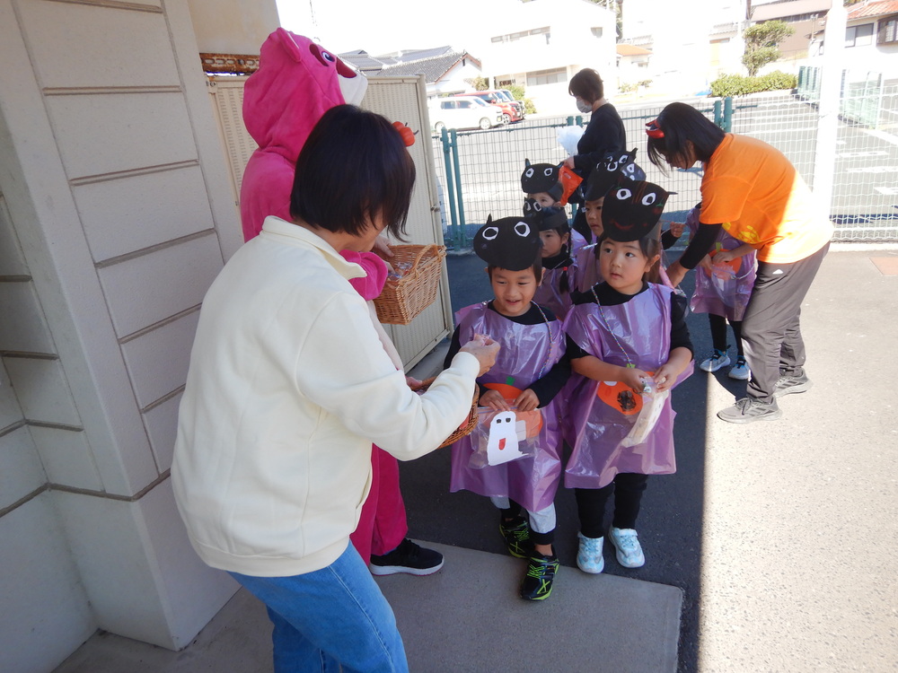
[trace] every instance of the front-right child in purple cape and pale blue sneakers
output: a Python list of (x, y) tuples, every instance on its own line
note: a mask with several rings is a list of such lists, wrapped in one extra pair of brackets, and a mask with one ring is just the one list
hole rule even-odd
[[(603, 518), (612, 494), (609, 537), (618, 562), (645, 564), (636, 520), (648, 475), (676, 470), (667, 391), (691, 373), (692, 346), (685, 298), (658, 284), (658, 219), (667, 196), (641, 180), (621, 181), (605, 196), (597, 244), (604, 282), (575, 295), (565, 320), (574, 371), (564, 396), (573, 447), (565, 485), (575, 489), (577, 566), (584, 572), (603, 571)], [(634, 440), (640, 424), (645, 432)]]

